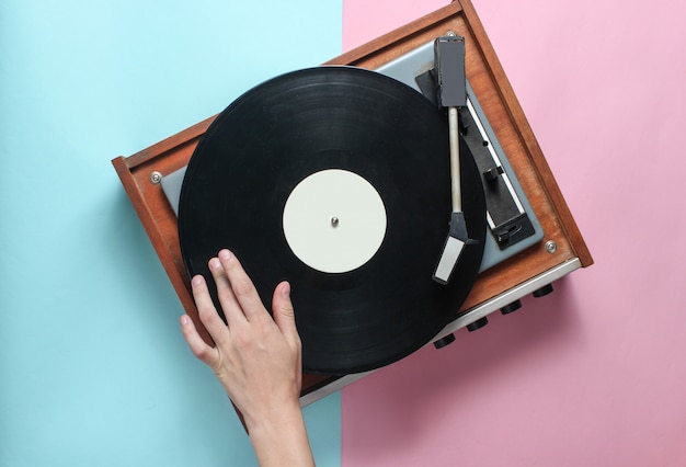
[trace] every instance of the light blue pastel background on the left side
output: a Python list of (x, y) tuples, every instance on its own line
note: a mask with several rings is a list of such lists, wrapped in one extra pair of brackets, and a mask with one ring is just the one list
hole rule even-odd
[[(341, 0), (1, 3), (0, 466), (255, 464), (110, 161), (336, 56), (341, 14)], [(340, 465), (339, 396), (306, 419), (318, 465)]]

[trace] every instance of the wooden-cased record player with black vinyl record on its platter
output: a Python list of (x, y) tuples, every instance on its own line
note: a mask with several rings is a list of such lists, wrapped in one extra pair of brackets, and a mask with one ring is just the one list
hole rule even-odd
[[(437, 39), (450, 38), (464, 47), (466, 99), (455, 115), (467, 231), (441, 284), (431, 273), (459, 237), (450, 228), (445, 240), (456, 212), (451, 124), (435, 93)], [(456, 330), (476, 330), (593, 263), (468, 0), (260, 83), (221, 114), (113, 164), (199, 330), (190, 273), (218, 248), (237, 249), (259, 289), (288, 278), (294, 294), (304, 291), (300, 303), (294, 295), (302, 405), (422, 345), (444, 346)], [(226, 191), (217, 173), (243, 183), (207, 207)], [(218, 237), (204, 218), (224, 223)], [(416, 254), (399, 262), (409, 249)]]

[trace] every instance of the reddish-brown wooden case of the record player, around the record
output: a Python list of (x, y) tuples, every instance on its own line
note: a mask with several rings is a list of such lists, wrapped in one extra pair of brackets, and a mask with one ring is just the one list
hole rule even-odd
[[(448, 32), (465, 37), (466, 73), (475, 94), (524, 189), (545, 237), (538, 244), (479, 275), (458, 319), (442, 334), (482, 319), (551, 281), (593, 263), (558, 184), (544, 158), (483, 26), (469, 0), (457, 0), (434, 13), (355, 48), (327, 65), (376, 69)], [(112, 161), (181, 303), (207, 342), (190, 292), (179, 247), (176, 216), (160, 185), (161, 178), (185, 167), (211, 116), (130, 157)], [(301, 402), (309, 403), (361, 377), (304, 375)]]

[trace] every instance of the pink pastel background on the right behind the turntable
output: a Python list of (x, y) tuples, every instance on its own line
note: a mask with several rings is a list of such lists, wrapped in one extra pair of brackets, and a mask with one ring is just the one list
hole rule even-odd
[[(446, 3), (345, 0), (344, 49)], [(345, 388), (342, 465), (684, 466), (686, 3), (473, 4), (596, 264)]]

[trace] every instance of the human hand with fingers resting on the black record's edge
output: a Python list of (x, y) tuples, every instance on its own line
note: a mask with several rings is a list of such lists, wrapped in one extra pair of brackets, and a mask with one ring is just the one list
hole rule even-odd
[(307, 456), (311, 459), (311, 453), (299, 406), (300, 338), (290, 303), (290, 285), (282, 282), (274, 289), (272, 319), (230, 251), (221, 250), (208, 264), (227, 324), (217, 314), (204, 277), (196, 275), (191, 281), (193, 297), (201, 322), (215, 345), (201, 338), (185, 315), (181, 317), (184, 339), (193, 354), (215, 372), (243, 414), (261, 465), (270, 465), (265, 456), (274, 456), (278, 463), (285, 460), (287, 453), (275, 449), (279, 444), (291, 452), (295, 448), (299, 456), (293, 458), (295, 464), (287, 465), (309, 465)]

